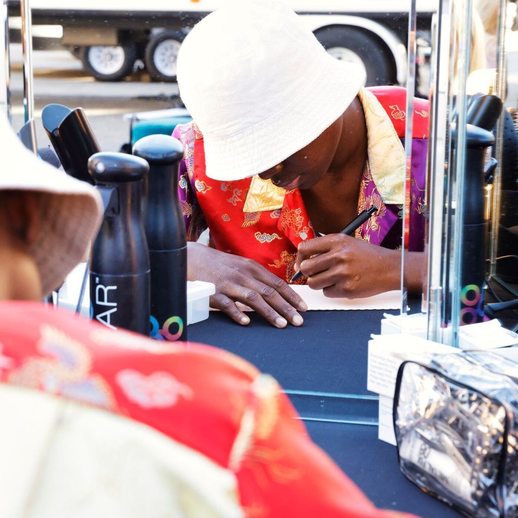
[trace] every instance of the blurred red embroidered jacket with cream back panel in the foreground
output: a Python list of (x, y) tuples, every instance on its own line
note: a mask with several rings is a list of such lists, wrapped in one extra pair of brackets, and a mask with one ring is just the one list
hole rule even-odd
[[(374, 507), (311, 442), (279, 389), (270, 376), (220, 349), (114, 332), (40, 304), (0, 303), (2, 433), (8, 432), (11, 421), (25, 424), (18, 428), (23, 433), (15, 434), (16, 439), (11, 436), (12, 444), (3, 444), (2, 451), (5, 454), (21, 448), (19, 458), (31, 441), (36, 444), (35, 452), (29, 455), (29, 461), (35, 461), (35, 472), (22, 472), (19, 484), (32, 487), (27, 498), (34, 512), (35, 506), (42, 505), (56, 505), (63, 511), (67, 498), (74, 493), (76, 500), (72, 503), (75, 509), (81, 506), (82, 516), (99, 515), (88, 510), (102, 494), (96, 505), (103, 515), (110, 509), (113, 518), (139, 516), (138, 509), (120, 512), (125, 499), (112, 488), (117, 487), (118, 477), (123, 477), (124, 481), (138, 482), (135, 487), (123, 485), (123, 490), (129, 500), (133, 492), (139, 492), (135, 506), (148, 506), (145, 514), (140, 514), (147, 518), (175, 514), (171, 509), (162, 514), (154, 512), (154, 502), (161, 500), (156, 495), (159, 486), (181, 509), (175, 514), (178, 516), (400, 515)], [(33, 401), (35, 395), (37, 405), (29, 405), (32, 410), (24, 413), (24, 401)], [(10, 414), (6, 413), (9, 396), (13, 396)], [(66, 405), (60, 405), (60, 401)], [(49, 405), (53, 409), (49, 419), (40, 419), (49, 421), (49, 429), (27, 427), (27, 423), (41, 418)], [(78, 415), (82, 419), (78, 420)], [(76, 421), (78, 426), (74, 427)], [(85, 427), (98, 422), (103, 424), (93, 424), (85, 433)], [(110, 443), (106, 438), (113, 426), (117, 433), (112, 434)], [(127, 431), (132, 426), (138, 434), (130, 434), (128, 441)], [(130, 464), (115, 458), (121, 455), (121, 444), (122, 457), (129, 455)], [(175, 447), (174, 454), (170, 455), (169, 447)], [(109, 478), (106, 474), (100, 480), (98, 476), (84, 476), (83, 470), (87, 475), (102, 473), (95, 462), (86, 466), (99, 451), (94, 459), (98, 464), (114, 462), (117, 468)], [(142, 453), (140, 457), (138, 452)], [(60, 457), (59, 462), (45, 477), (47, 465), (56, 457)], [(4, 474), (16, 471), (5, 462), (3, 465)], [(62, 472), (70, 466), (74, 469)], [(80, 484), (69, 482), (78, 476)], [(61, 477), (62, 484), (69, 485), (68, 492), (58, 484), (55, 495), (45, 494), (53, 477)], [(18, 487), (9, 492), (12, 500), (20, 496), (16, 491)], [(153, 491), (155, 494), (148, 496)], [(23, 503), (23, 498), (20, 501)], [(3, 506), (9, 506), (9, 502), (0, 502), (4, 515)], [(205, 511), (197, 514), (196, 509)], [(23, 514), (29, 515), (25, 508)]]

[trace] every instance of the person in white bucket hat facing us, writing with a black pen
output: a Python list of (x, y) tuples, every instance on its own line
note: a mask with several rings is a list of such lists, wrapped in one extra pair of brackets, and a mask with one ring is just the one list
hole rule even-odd
[[(244, 303), (277, 327), (301, 325), (289, 281), (328, 297), (399, 288), (405, 202), (406, 91), (367, 89), (362, 67), (335, 60), (283, 3), (232, 3), (200, 21), (178, 56), (193, 122), (179, 191), (188, 276), (214, 282), (211, 307), (246, 325)], [(428, 104), (415, 99), (411, 275), (421, 289)], [(339, 232), (378, 210), (354, 236)], [(195, 242), (210, 229), (211, 246)], [(324, 237), (316, 236), (323, 234)], [(318, 254), (318, 255), (317, 255)]]

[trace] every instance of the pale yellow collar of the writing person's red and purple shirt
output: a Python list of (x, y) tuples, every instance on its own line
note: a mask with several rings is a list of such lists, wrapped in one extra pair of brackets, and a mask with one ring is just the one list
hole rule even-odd
[[(362, 88), (358, 92), (367, 125), (367, 154), (372, 179), (385, 204), (404, 203), (405, 149), (376, 96)], [(282, 208), (286, 191), (270, 180), (252, 177), (243, 212)]]

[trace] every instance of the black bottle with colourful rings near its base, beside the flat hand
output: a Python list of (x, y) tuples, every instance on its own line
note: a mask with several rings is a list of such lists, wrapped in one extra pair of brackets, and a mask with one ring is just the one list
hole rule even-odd
[(187, 339), (187, 242), (178, 198), (183, 147), (167, 135), (138, 140), (133, 154), (146, 159), (144, 222), (151, 264), (151, 336)]

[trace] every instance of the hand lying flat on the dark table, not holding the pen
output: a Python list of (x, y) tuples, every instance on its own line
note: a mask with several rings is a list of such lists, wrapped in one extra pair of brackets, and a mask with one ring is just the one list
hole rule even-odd
[(249, 317), (236, 305), (238, 301), (276, 327), (286, 327), (288, 322), (295, 326), (303, 324), (297, 310), (308, 309), (304, 300), (286, 282), (255, 261), (191, 242), (187, 264), (189, 280), (215, 284), (216, 293), (210, 297), (210, 307), (223, 311), (237, 323), (250, 323)]

